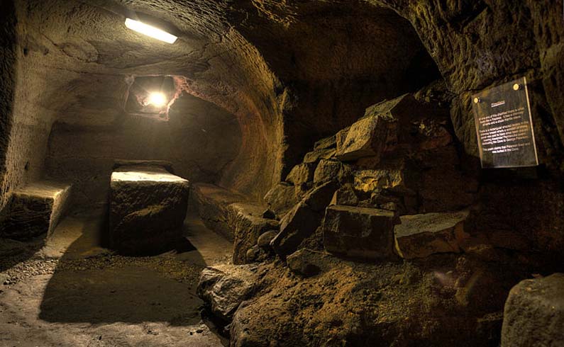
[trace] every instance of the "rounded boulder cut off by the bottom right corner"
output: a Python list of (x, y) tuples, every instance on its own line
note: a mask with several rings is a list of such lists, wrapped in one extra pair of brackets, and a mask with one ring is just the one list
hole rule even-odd
[(564, 345), (564, 273), (523, 280), (507, 297), (502, 347)]

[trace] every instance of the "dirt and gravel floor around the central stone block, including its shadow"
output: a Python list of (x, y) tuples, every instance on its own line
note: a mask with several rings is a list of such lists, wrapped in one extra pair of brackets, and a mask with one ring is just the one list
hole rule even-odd
[(100, 246), (101, 215), (74, 212), (46, 242), (0, 239), (0, 346), (226, 346), (196, 286), (231, 244), (189, 216), (177, 250), (117, 256)]

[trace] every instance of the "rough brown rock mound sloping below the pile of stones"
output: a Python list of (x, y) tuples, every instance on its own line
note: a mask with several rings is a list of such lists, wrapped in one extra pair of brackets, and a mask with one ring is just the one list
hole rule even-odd
[(319, 272), (260, 266), (231, 346), (499, 346), (505, 297), (526, 273), (509, 270), (514, 258), (491, 267), (465, 255), (374, 264), (300, 254)]

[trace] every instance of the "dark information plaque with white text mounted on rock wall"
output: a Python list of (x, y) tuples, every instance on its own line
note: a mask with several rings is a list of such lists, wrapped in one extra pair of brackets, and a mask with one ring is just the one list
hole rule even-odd
[(536, 166), (526, 78), (472, 96), (483, 168)]

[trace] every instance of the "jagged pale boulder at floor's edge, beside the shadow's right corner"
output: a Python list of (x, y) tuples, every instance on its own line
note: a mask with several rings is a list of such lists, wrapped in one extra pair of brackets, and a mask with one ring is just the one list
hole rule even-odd
[(197, 293), (211, 311), (226, 321), (255, 290), (257, 266), (219, 265), (201, 271)]

